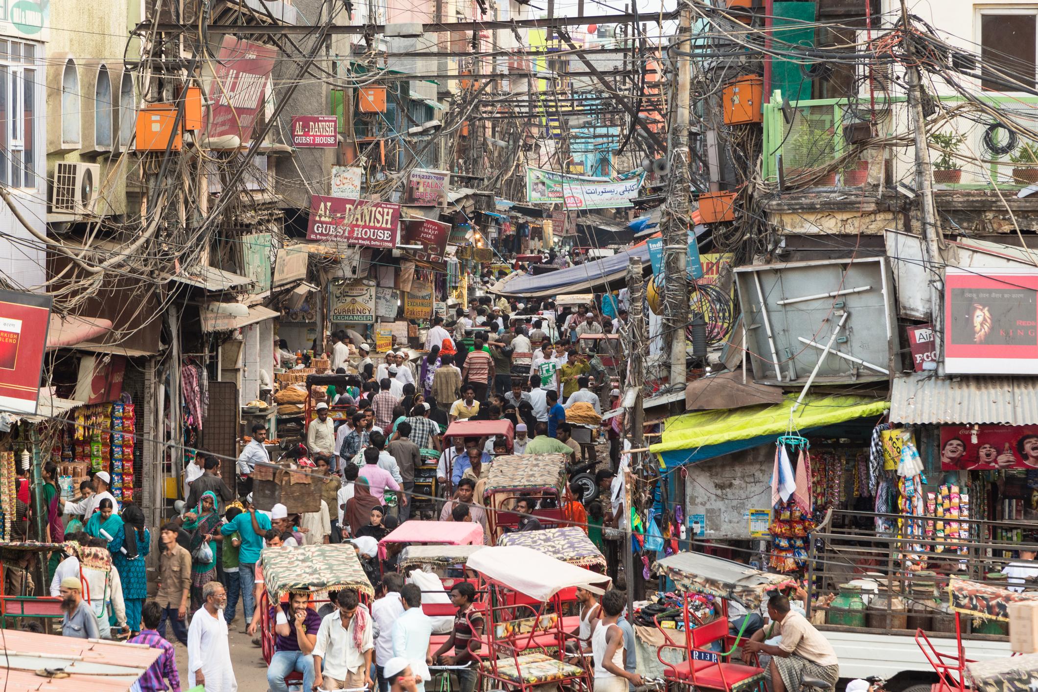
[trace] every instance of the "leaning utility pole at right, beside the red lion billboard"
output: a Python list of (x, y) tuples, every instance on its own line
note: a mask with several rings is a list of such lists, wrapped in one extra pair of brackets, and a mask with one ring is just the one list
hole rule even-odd
[(937, 205), (933, 199), (933, 168), (930, 165), (930, 149), (926, 139), (926, 119), (923, 115), (922, 76), (916, 65), (912, 48), (911, 25), (908, 22), (908, 8), (905, 0), (901, 0), (901, 21), (904, 24), (905, 50), (908, 53), (908, 114), (911, 117), (916, 139), (916, 191), (919, 193), (920, 226), (923, 237), (923, 247), (926, 251), (926, 261), (930, 272), (931, 322), (933, 323), (933, 348), (937, 354), (937, 368), (944, 373), (944, 336), (945, 312), (941, 297), (945, 293), (945, 282), (941, 279), (940, 267), (944, 259), (940, 254), (940, 226), (937, 220)]

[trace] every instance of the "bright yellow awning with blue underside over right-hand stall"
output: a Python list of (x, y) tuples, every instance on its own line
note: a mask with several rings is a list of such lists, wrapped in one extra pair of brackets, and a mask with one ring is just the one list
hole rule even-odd
[[(789, 394), (782, 404), (696, 411), (668, 418), (661, 441), (649, 450), (671, 467), (773, 443), (789, 428), (789, 412), (796, 397)], [(793, 414), (793, 425), (805, 434), (856, 418), (879, 418), (890, 406), (884, 399), (869, 396), (809, 394)]]

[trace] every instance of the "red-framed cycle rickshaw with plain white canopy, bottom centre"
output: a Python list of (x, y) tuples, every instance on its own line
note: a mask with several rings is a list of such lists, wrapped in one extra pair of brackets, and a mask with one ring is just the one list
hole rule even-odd
[(564, 625), (559, 594), (577, 586), (603, 593), (609, 578), (522, 546), (481, 550), (466, 566), (489, 590), (480, 674), (490, 682), (480, 687), (527, 692), (551, 684), (590, 692), (591, 672), (566, 661), (567, 644), (579, 642)]

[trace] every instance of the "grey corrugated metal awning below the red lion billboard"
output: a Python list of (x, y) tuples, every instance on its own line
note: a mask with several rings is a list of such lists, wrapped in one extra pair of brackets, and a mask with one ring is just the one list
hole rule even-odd
[(891, 422), (1035, 425), (1038, 378), (898, 375), (891, 388)]

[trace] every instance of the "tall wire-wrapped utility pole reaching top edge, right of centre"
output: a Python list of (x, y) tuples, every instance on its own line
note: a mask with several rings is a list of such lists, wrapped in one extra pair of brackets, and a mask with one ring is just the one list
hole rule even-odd
[[(678, 23), (677, 50), (684, 47), (691, 36), (692, 9), (685, 0), (681, 5)], [(685, 264), (688, 256), (689, 192), (691, 181), (688, 172), (688, 128), (691, 119), (691, 55), (678, 56), (678, 93), (675, 103), (672, 142), (667, 151), (671, 159), (670, 193), (666, 202), (666, 226), (663, 231), (663, 267), (666, 276), (664, 290), (664, 343), (670, 347), (671, 385), (685, 386), (685, 326), (688, 324), (688, 274)]]

